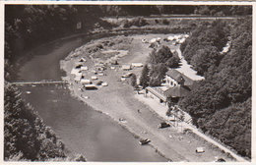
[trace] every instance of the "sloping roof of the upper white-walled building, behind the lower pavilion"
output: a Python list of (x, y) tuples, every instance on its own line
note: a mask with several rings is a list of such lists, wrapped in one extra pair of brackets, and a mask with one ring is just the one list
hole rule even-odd
[(190, 78), (186, 77), (182, 73), (178, 72), (175, 69), (171, 69), (166, 73), (167, 76), (175, 80), (177, 83), (180, 83), (182, 79), (184, 80), (184, 85), (191, 86), (193, 85), (194, 81)]

